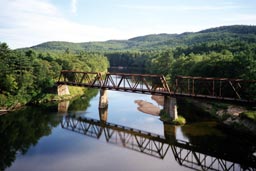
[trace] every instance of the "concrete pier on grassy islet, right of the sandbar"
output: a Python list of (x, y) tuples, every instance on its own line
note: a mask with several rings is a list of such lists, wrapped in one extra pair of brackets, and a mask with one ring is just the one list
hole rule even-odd
[(173, 120), (178, 118), (176, 98), (164, 96), (164, 112), (168, 113)]

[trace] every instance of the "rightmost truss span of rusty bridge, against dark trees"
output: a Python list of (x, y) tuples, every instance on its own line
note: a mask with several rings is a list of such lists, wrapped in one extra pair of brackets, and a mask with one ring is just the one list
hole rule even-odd
[(174, 94), (253, 102), (256, 80), (176, 76)]

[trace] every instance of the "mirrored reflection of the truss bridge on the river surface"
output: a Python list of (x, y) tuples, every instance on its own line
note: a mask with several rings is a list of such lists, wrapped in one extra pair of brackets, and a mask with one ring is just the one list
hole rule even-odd
[[(102, 113), (103, 112), (103, 113)], [(106, 111), (105, 111), (106, 112)], [(106, 122), (107, 115), (100, 111), (100, 120), (87, 117), (64, 116), (61, 126), (64, 129), (100, 139), (108, 143), (138, 151), (152, 157), (164, 159), (171, 149), (175, 160), (182, 166), (194, 170), (256, 170), (255, 158), (251, 160), (232, 154), (221, 154), (218, 150), (207, 150), (200, 145), (177, 140), (175, 134), (165, 136)], [(165, 129), (168, 127), (164, 126)], [(175, 129), (175, 127), (173, 127)], [(175, 130), (174, 130), (175, 131)], [(171, 135), (171, 136), (170, 136)]]

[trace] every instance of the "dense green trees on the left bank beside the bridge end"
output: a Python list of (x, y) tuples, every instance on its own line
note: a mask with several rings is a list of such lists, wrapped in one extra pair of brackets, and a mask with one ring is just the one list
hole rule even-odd
[(26, 104), (54, 87), (61, 70), (106, 71), (107, 58), (96, 53), (38, 53), (11, 50), (0, 43), (0, 106)]

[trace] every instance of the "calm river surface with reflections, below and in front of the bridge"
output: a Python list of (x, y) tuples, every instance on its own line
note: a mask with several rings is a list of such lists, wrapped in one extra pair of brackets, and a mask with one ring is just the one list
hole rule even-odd
[(0, 170), (256, 170), (255, 141), (211, 119), (172, 126), (137, 110), (135, 100), (158, 106), (151, 96), (108, 91), (107, 111), (98, 99), (0, 116)]

